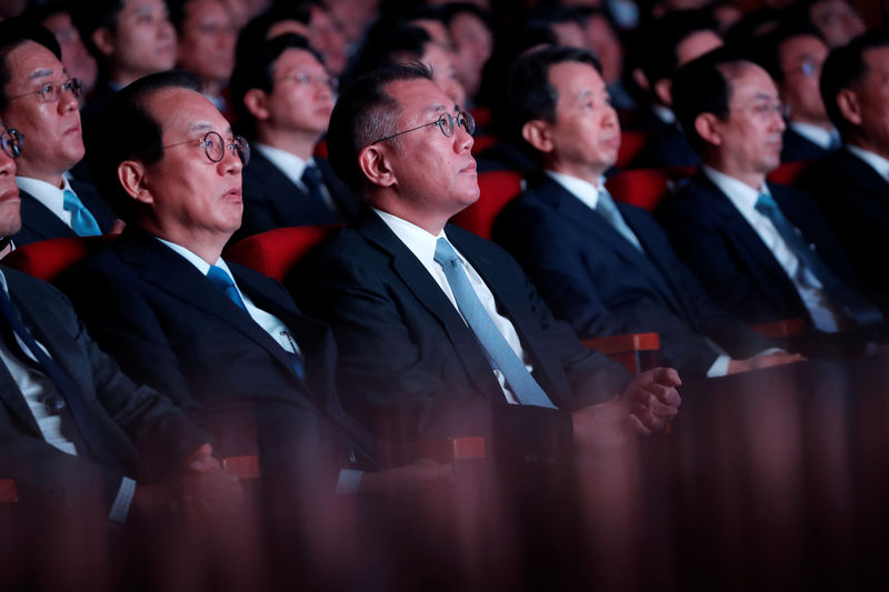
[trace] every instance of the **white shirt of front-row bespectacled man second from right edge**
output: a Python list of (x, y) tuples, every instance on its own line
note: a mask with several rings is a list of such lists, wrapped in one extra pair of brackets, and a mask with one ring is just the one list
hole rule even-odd
[(701, 165), (701, 170), (729, 198), (729, 201), (747, 220), (762, 242), (766, 243), (772, 257), (775, 257), (797, 289), (802, 302), (806, 304), (806, 309), (809, 311), (809, 315), (812, 318), (815, 327), (829, 333), (839, 331), (840, 317), (838, 311), (832, 308), (821, 282), (811, 270), (800, 263), (799, 258), (787, 245), (771, 220), (756, 209), (759, 193), (768, 193), (768, 187), (763, 183), (762, 188), (755, 189), (706, 164)]

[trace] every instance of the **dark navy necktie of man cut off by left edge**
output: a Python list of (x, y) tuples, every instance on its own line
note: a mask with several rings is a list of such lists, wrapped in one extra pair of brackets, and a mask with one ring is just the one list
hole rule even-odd
[[(18, 312), (16, 312), (9, 295), (7, 295), (7, 292), (2, 289), (2, 287), (0, 287), (0, 314), (2, 314), (3, 320), (12, 330), (12, 333), (14, 333), (14, 335), (24, 343), (24, 345), (28, 348), (28, 351), (30, 351), (33, 357), (37, 358), (38, 370), (42, 371), (43, 374), (49, 377), (49, 379), (56, 385), (56, 390), (59, 392), (59, 394), (61, 394), (62, 401), (57, 400), (57, 404), (50, 405), (49, 410), (51, 412), (59, 412), (61, 409), (67, 407), (71, 413), (71, 418), (74, 421), (79, 437), (87, 445), (88, 450), (84, 452), (89, 452), (93, 459), (101, 460), (108, 466), (120, 469), (120, 463), (110, 453), (110, 448), (106, 444), (104, 439), (90, 420), (87, 402), (83, 400), (80, 389), (70, 379), (70, 377), (68, 377), (66, 371), (59, 367), (59, 364), (57, 364), (52, 358), (50, 358), (43, 351), (43, 349), (40, 348), (40, 345), (37, 344), (37, 341), (34, 341), (34, 338), (31, 335), (31, 332), (28, 331), (28, 328), (24, 327), (24, 323), (22, 322)], [(17, 342), (12, 343), (11, 345), (20, 350)], [(33, 365), (33, 360), (23, 351), (21, 352), (21, 355), (24, 357), (23, 361)]]

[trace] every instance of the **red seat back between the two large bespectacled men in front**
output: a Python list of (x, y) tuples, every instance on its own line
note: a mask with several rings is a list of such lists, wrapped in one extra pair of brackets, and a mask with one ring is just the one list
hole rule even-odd
[(269, 278), (283, 281), (299, 259), (342, 224), (278, 228), (241, 239), (222, 255)]

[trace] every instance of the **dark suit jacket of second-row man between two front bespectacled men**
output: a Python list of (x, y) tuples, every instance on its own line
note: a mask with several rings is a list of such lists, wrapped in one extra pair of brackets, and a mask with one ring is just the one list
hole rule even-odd
[(243, 170), (243, 220), (232, 242), (274, 228), (348, 222), (359, 201), (326, 159), (314, 159), (338, 212), (317, 203), (259, 150)]

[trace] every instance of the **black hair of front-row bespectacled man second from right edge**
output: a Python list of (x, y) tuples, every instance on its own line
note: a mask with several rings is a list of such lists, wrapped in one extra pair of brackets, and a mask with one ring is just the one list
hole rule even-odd
[(726, 70), (756, 66), (745, 53), (728, 46), (715, 49), (677, 70), (672, 78), (673, 112), (689, 143), (700, 152), (707, 142), (695, 129), (701, 113), (727, 119), (731, 99), (731, 80)]

